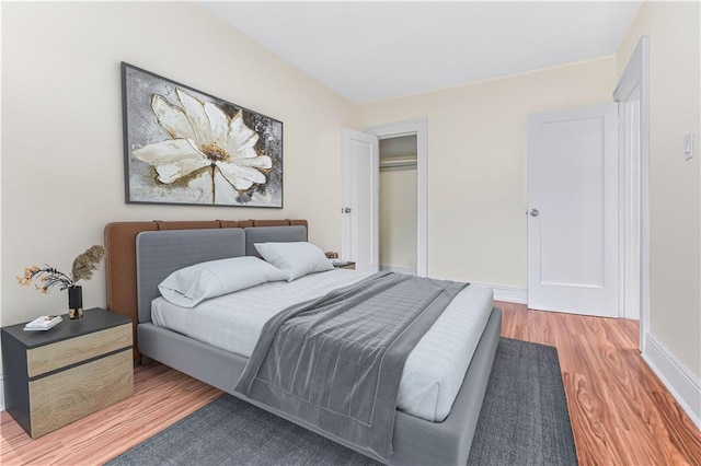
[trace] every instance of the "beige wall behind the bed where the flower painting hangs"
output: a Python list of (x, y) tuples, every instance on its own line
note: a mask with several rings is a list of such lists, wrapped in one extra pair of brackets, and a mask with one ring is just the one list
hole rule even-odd
[[(119, 62), (281, 120), (285, 209), (125, 205)], [(2, 4), (2, 308), (9, 325), (65, 312), (66, 293), (16, 284), (70, 268), (110, 221), (307, 218), (340, 246), (340, 128), (356, 107), (196, 2)], [(105, 304), (104, 275), (84, 304)]]

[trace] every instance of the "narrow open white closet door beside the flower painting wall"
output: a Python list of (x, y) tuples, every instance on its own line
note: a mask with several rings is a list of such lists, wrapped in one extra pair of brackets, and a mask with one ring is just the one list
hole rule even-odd
[(341, 130), (341, 256), (361, 271), (380, 269), (379, 152), (377, 136)]

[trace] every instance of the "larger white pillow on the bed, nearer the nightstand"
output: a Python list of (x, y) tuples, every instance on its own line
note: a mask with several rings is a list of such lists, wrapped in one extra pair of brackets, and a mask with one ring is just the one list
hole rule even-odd
[(287, 275), (257, 257), (243, 256), (195, 264), (175, 270), (158, 286), (173, 304), (195, 307), (202, 301), (287, 279)]

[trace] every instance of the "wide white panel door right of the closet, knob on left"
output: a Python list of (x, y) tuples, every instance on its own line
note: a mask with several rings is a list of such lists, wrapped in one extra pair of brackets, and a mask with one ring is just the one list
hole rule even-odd
[(528, 307), (618, 317), (616, 103), (528, 117)]

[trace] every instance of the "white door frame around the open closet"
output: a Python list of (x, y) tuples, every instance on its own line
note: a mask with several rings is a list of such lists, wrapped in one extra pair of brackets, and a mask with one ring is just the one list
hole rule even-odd
[(378, 139), (416, 135), (416, 276), (428, 276), (428, 145), (427, 120), (392, 123), (366, 128)]

